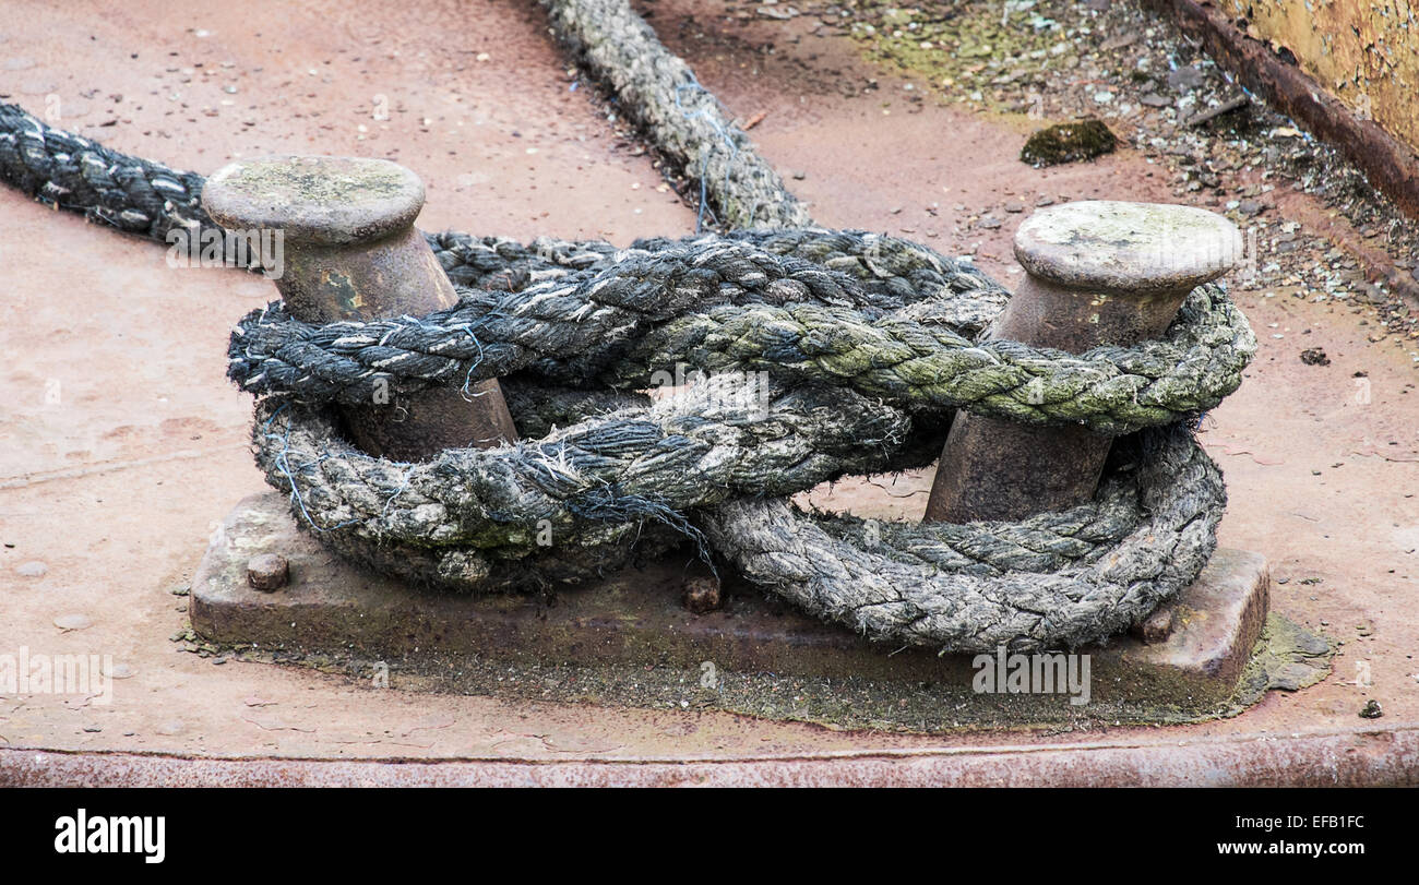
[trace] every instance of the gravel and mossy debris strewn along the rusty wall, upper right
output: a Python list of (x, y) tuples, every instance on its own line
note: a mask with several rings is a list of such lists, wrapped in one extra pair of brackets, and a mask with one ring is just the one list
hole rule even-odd
[[(1171, 176), (1179, 201), (1243, 228), (1256, 264), (1246, 288), (1361, 313), (1372, 343), (1402, 347), (1419, 370), (1419, 226), (1137, 0), (1012, 3), (1003, 23), (1000, 3), (985, 0), (795, 7), (817, 18), (816, 33), (847, 35), (868, 60), (920, 82), (908, 104), (1026, 115), (1040, 126), (1101, 119), (1121, 148)], [(1100, 102), (1101, 94), (1110, 98)], [(1208, 116), (1227, 105), (1236, 106)], [(1276, 197), (1290, 190), (1348, 221), (1349, 241), (1280, 217)]]

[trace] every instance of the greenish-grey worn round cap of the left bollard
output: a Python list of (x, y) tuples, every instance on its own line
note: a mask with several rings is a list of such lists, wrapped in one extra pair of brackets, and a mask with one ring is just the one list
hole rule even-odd
[(348, 245), (407, 230), (424, 206), (424, 183), (389, 160), (272, 156), (219, 169), (201, 204), (226, 228), (272, 228), (297, 243)]

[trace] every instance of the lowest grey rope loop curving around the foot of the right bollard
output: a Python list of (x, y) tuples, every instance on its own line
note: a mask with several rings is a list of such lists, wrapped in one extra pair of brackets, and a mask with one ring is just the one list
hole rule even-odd
[[(1147, 617), (1196, 580), (1216, 546), (1220, 471), (1186, 433), (1149, 433), (1164, 440), (1093, 502), (1019, 523), (905, 526), (738, 499), (702, 525), (746, 577), (870, 638), (955, 652), (1073, 648)], [(1040, 522), (1053, 533), (1025, 542), (1025, 567), (951, 543), (976, 532), (1003, 546)], [(1107, 543), (1090, 543), (1100, 535)]]

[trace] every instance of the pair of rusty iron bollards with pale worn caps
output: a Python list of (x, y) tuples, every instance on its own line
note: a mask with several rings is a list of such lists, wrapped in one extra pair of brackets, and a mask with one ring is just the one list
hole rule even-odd
[[(282, 231), (275, 279), (291, 316), (309, 323), (420, 316), (455, 304), (414, 218), (424, 187), (386, 160), (271, 157), (207, 180), (203, 206), (228, 230)], [(1081, 353), (1156, 338), (1188, 292), (1237, 262), (1242, 237), (1215, 213), (1183, 206), (1081, 201), (1030, 216), (1015, 237), (1026, 279), (989, 338)], [(471, 396), (431, 389), (345, 407), (356, 445), (419, 461), (453, 447), (517, 441), (498, 382)], [(1030, 427), (959, 413), (937, 469), (928, 522), (1022, 519), (1087, 501), (1110, 438), (1083, 427)]]

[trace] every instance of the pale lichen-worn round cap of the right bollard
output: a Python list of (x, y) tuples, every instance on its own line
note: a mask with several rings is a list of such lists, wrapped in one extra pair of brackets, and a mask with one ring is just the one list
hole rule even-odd
[(1188, 291), (1237, 265), (1242, 231), (1191, 206), (1081, 200), (1026, 218), (1015, 258), (1032, 277), (1076, 289)]

